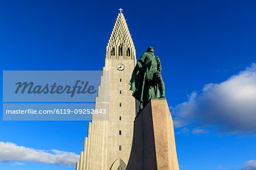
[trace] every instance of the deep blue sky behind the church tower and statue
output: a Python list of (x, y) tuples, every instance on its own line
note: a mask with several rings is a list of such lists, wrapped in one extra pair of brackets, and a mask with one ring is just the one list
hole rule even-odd
[[(161, 60), (180, 169), (256, 169), (255, 1), (0, 1), (1, 69), (101, 70), (120, 7), (137, 59), (151, 45)], [(65, 154), (87, 127), (0, 121), (0, 169), (75, 169)], [(11, 161), (5, 148), (46, 154)]]

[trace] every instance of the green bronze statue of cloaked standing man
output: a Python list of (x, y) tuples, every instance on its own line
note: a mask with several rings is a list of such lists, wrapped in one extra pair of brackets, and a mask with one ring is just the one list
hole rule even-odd
[(134, 68), (129, 84), (130, 90), (133, 90), (133, 97), (142, 105), (153, 97), (165, 97), (164, 82), (161, 75), (161, 64), (159, 57), (155, 57), (153, 47), (148, 47), (147, 51), (139, 58), (137, 65)]

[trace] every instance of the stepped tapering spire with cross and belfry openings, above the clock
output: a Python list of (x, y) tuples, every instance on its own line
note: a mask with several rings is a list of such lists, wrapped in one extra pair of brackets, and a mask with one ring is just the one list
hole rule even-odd
[(135, 59), (135, 47), (131, 39), (122, 9), (115, 20), (106, 48), (106, 59)]

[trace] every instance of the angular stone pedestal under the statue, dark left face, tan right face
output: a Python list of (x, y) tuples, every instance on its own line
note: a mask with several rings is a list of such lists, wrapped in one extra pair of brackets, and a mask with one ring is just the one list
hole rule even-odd
[(166, 99), (151, 99), (135, 118), (127, 170), (178, 170), (174, 123)]

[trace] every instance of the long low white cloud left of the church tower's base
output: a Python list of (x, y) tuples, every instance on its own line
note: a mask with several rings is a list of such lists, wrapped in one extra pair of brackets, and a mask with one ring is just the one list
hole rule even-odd
[(57, 150), (35, 150), (17, 146), (11, 142), (0, 142), (0, 161), (30, 161), (35, 163), (74, 166), (79, 161), (79, 155), (73, 152)]

